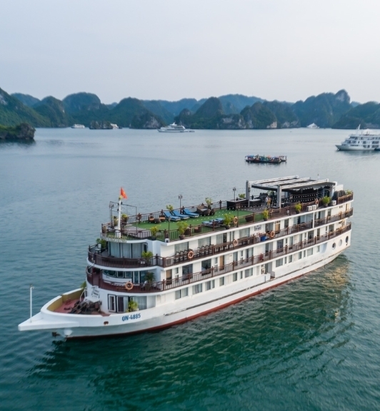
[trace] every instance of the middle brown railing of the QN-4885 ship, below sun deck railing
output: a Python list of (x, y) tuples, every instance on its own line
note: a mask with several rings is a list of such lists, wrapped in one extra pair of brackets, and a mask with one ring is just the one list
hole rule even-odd
[[(321, 218), (320, 220), (314, 220), (314, 228), (328, 223), (334, 223), (335, 221), (348, 218), (353, 213), (353, 208), (348, 211), (333, 215), (332, 217)], [(292, 225), (281, 230), (274, 230), (274, 238), (285, 237), (286, 235), (299, 233), (301, 231), (310, 230), (313, 228), (313, 221), (307, 223), (301, 223)], [(225, 229), (223, 229), (225, 231)], [(96, 245), (91, 245), (89, 247), (89, 261), (95, 263), (96, 265), (103, 265), (109, 268), (148, 268), (158, 265), (159, 267), (168, 268), (172, 265), (183, 263), (186, 261), (199, 260), (208, 255), (217, 255), (224, 253), (228, 250), (239, 250), (239, 248), (244, 248), (247, 245), (261, 243), (263, 241), (269, 240), (269, 233), (259, 233), (256, 235), (251, 235), (246, 238), (237, 239), (237, 243), (230, 241), (228, 243), (216, 244), (216, 245), (204, 245), (197, 250), (191, 250), (193, 252), (191, 258), (189, 258), (189, 251), (182, 251), (176, 253), (171, 257), (159, 257), (155, 255), (152, 258), (114, 258), (100, 255), (97, 253)]]

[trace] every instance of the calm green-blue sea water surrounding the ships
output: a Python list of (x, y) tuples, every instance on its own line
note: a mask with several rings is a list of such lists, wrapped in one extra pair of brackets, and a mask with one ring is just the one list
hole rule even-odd
[[(336, 151), (347, 131), (39, 129), (0, 144), (1, 410), (379, 410), (380, 153)], [(281, 165), (246, 154), (284, 154)], [(86, 248), (120, 186), (139, 211), (310, 176), (354, 191), (351, 248), (325, 268), (159, 333), (64, 341), (19, 333), (84, 281)]]

